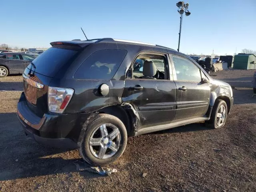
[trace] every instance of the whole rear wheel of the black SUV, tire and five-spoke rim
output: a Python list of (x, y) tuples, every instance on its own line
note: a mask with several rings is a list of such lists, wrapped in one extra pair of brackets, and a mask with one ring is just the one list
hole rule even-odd
[[(116, 128), (118, 128), (119, 133)], [(108, 135), (105, 136), (106, 138), (102, 136), (103, 133), (103, 135), (106, 135), (104, 130), (107, 130), (108, 133)], [(112, 139), (110, 136), (112, 136), (114, 130), (117, 132), (117, 136)], [(92, 141), (92, 139), (94, 140)], [(109, 114), (98, 114), (95, 120), (86, 129), (79, 152), (82, 158), (89, 164), (105, 166), (116, 161), (123, 154), (126, 143), (127, 132), (123, 122)], [(114, 148), (112, 146), (114, 146)], [(102, 153), (100, 153), (101, 149)], [(103, 152), (104, 149), (106, 149), (105, 153)]]

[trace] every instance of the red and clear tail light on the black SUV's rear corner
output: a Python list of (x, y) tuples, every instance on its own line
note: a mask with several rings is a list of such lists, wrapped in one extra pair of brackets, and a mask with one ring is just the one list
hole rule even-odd
[(48, 87), (48, 109), (50, 112), (63, 113), (68, 106), (72, 96), (73, 89)]

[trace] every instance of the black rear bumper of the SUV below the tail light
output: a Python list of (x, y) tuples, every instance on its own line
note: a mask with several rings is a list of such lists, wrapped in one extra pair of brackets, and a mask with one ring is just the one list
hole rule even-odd
[(82, 126), (90, 114), (45, 113), (40, 118), (30, 110), (22, 92), (17, 116), (26, 135), (36, 142), (56, 148), (78, 148)]

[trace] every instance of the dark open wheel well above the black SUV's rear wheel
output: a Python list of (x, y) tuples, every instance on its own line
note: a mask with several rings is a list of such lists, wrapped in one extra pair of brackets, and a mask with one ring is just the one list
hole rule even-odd
[(132, 134), (132, 124), (131, 124), (130, 116), (121, 106), (118, 106), (118, 105), (108, 106), (98, 110), (98, 112), (116, 116), (124, 123), (128, 136)]

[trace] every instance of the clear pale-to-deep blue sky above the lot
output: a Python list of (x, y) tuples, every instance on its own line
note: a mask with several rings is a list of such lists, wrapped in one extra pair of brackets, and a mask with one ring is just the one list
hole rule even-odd
[[(176, 0), (4, 0), (0, 44), (50, 47), (56, 40), (112, 37), (177, 49)], [(185, 1), (186, 2), (186, 1)], [(190, 0), (180, 52), (234, 54), (256, 50), (255, 0)], [(6, 17), (5, 17), (6, 16)]]

